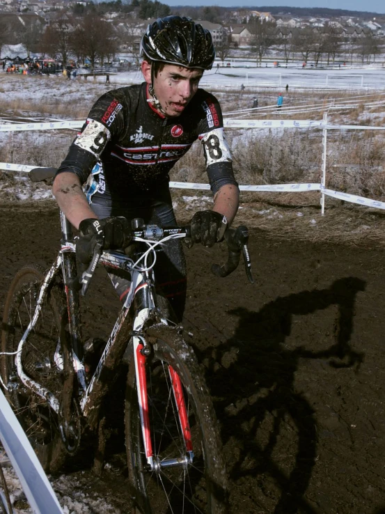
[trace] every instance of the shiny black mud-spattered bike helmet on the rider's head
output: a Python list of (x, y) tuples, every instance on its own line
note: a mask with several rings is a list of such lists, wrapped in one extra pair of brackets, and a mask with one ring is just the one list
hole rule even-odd
[(158, 18), (141, 40), (141, 55), (152, 61), (210, 70), (215, 58), (212, 37), (201, 24), (181, 16)]

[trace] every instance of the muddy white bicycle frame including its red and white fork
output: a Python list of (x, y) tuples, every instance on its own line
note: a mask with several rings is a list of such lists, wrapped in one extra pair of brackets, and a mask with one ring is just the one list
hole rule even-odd
[[(61, 228), (61, 249), (54, 264), (50, 268), (49, 272), (47, 272), (47, 275), (44, 281), (42, 282), (42, 286), (40, 287), (38, 293), (36, 311), (35, 313), (33, 313), (33, 318), (31, 319), (31, 322), (29, 322), (29, 325), (26, 328), (26, 331), (24, 332), (22, 339), (19, 341), (19, 345), (17, 348), (17, 355), (15, 357), (15, 361), (17, 365), (17, 374), (20, 380), (28, 389), (33, 390), (36, 394), (38, 394), (38, 396), (46, 400), (49, 406), (54, 410), (54, 412), (56, 412), (56, 414), (58, 414), (59, 416), (63, 415), (63, 412), (61, 412), (62, 406), (59, 403), (58, 399), (51, 393), (51, 391), (49, 391), (45, 387), (42, 387), (41, 384), (39, 384), (35, 380), (32, 380), (31, 377), (24, 373), (21, 358), (22, 348), (24, 346), (26, 338), (36, 326), (36, 322), (38, 321), (38, 318), (42, 311), (42, 306), (49, 292), (49, 286), (54, 280), (54, 277), (60, 268), (63, 272), (65, 295), (67, 299), (69, 322), (68, 332), (70, 334), (72, 367), (77, 377), (77, 383), (79, 384), (79, 407), (81, 413), (84, 415), (86, 419), (88, 418), (88, 416), (90, 416), (95, 402), (97, 403), (97, 400), (100, 400), (99, 396), (101, 395), (101, 393), (100, 390), (97, 389), (97, 387), (95, 387), (95, 385), (98, 384), (100, 380), (100, 376), (106, 366), (106, 362), (109, 355), (111, 354), (111, 350), (114, 347), (114, 345), (116, 345), (116, 341), (121, 332), (121, 329), (125, 325), (125, 322), (127, 320), (127, 315), (129, 314), (132, 305), (135, 303), (135, 309), (137, 314), (134, 317), (132, 329), (130, 329), (129, 331), (129, 336), (132, 336), (137, 384), (136, 389), (138, 392), (139, 412), (141, 418), (141, 430), (148, 465), (152, 471), (159, 472), (159, 470), (162, 467), (171, 467), (177, 465), (185, 466), (191, 463), (194, 458), (194, 452), (191, 442), (191, 433), (187, 415), (187, 407), (184, 402), (180, 377), (171, 366), (169, 366), (168, 371), (171, 377), (171, 387), (173, 389), (173, 396), (175, 398), (175, 404), (177, 407), (177, 412), (180, 420), (180, 429), (181, 433), (183, 434), (184, 443), (186, 446), (186, 454), (184, 458), (179, 457), (162, 460), (162, 462), (159, 462), (159, 460), (155, 459), (154, 452), (152, 449), (146, 381), (146, 355), (149, 355), (151, 350), (149, 348), (148, 341), (146, 341), (141, 332), (143, 332), (143, 327), (145, 323), (148, 321), (148, 319), (150, 317), (154, 317), (153, 313), (155, 313), (156, 309), (154, 285), (155, 276), (152, 270), (153, 264), (146, 267), (145, 259), (144, 267), (142, 266), (141, 268), (139, 268), (137, 267), (137, 264), (139, 260), (141, 260), (141, 258), (138, 261), (136, 261), (136, 263), (134, 263), (132, 258), (129, 258), (125, 254), (113, 251), (103, 252), (102, 256), (100, 256), (100, 263), (102, 263), (103, 265), (107, 265), (109, 268), (129, 272), (131, 274), (131, 286), (127, 298), (125, 299), (125, 303), (123, 304), (123, 307), (120, 310), (115, 325), (113, 326), (113, 329), (107, 341), (107, 345), (104, 348), (102, 357), (100, 357), (100, 361), (97, 364), (97, 368), (93, 373), (90, 382), (87, 384), (86, 371), (82, 361), (83, 347), (81, 345), (81, 334), (79, 329), (79, 293), (77, 290), (74, 289), (74, 287), (71, 286), (71, 281), (74, 281), (74, 279), (76, 279), (77, 277), (75, 259), (76, 246), (74, 244), (74, 240), (72, 237), (71, 225), (62, 212)], [(182, 237), (182, 235), (175, 235), (174, 237)], [(157, 244), (159, 244), (159, 242), (161, 241), (154, 242), (152, 249)], [(164, 325), (168, 324), (165, 318), (159, 316), (159, 313), (157, 317), (154, 319), (158, 323), (160, 322)], [(63, 334), (63, 330), (61, 330), (61, 334)], [(127, 341), (128, 340), (125, 339), (125, 348), (127, 348)], [(56, 348), (54, 361), (56, 363), (56, 366), (58, 366), (59, 368), (63, 368), (63, 359), (61, 358), (60, 350), (61, 341), (58, 341), (58, 347)], [(66, 420), (64, 419), (64, 421)]]

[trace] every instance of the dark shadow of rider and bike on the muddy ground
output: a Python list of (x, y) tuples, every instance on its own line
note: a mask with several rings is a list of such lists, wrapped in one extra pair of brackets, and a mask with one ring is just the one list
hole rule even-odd
[[(275, 496), (274, 511), (270, 507), (269, 512), (319, 512), (304, 497), (317, 460), (317, 420), (306, 396), (294, 391), (294, 374), (304, 358), (322, 359), (333, 368), (359, 368), (363, 354), (352, 349), (350, 339), (356, 295), (365, 287), (361, 279), (347, 277), (329, 288), (278, 297), (258, 312), (230, 311), (238, 317), (234, 336), (200, 355), (210, 363), (212, 396), (220, 398), (215, 407), (229, 453), (230, 479), (242, 483), (244, 477), (257, 477), (265, 497), (271, 501)], [(332, 305), (338, 315), (330, 348), (311, 351), (306, 341), (295, 349), (285, 345), (294, 315)], [(232, 455), (234, 441), (237, 451)]]

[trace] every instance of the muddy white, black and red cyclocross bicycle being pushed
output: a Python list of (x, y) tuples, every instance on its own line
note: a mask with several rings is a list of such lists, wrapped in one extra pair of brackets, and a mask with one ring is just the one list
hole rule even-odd
[[(55, 171), (34, 169), (31, 180), (46, 180)], [(57, 472), (79, 449), (85, 427), (100, 433), (102, 400), (128, 355), (125, 444), (132, 511), (226, 512), (226, 467), (212, 400), (182, 327), (171, 320), (167, 301), (155, 288), (157, 247), (188, 236), (189, 227), (134, 219), (129, 248), (102, 251), (97, 245), (79, 280), (76, 239), (63, 212), (60, 217), (58, 256), (46, 273), (29, 265), (16, 274), (1, 337), (1, 382), (42, 466)], [(228, 262), (212, 271), (225, 277), (243, 253), (253, 281), (246, 227), (227, 229), (224, 239)], [(86, 295), (97, 263), (127, 274), (132, 286), (88, 376), (79, 290)]]

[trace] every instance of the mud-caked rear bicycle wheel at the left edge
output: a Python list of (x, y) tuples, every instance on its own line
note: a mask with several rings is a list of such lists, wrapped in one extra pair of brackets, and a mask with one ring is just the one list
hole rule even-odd
[[(15, 352), (24, 331), (33, 316), (36, 297), (45, 274), (40, 267), (22, 267), (15, 275), (3, 313), (1, 348), (3, 352)], [(33, 380), (47, 387), (61, 400), (63, 391), (63, 366), (55, 363), (61, 327), (63, 285), (54, 279), (45, 299), (35, 329), (26, 338), (22, 351), (24, 372)], [(63, 311), (64, 312), (64, 311)], [(65, 351), (61, 356), (65, 361)], [(65, 461), (65, 447), (59, 431), (58, 416), (47, 402), (22, 384), (17, 377), (15, 355), (1, 355), (1, 375), (8, 402), (45, 469), (57, 472)]]

